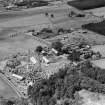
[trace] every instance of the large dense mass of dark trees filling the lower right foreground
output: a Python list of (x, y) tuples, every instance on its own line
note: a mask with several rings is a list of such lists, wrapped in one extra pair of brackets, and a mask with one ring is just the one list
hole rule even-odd
[(89, 61), (65, 67), (49, 79), (35, 83), (30, 98), (36, 105), (74, 105), (78, 103), (75, 93), (82, 89), (105, 94), (104, 76), (104, 70), (92, 67)]

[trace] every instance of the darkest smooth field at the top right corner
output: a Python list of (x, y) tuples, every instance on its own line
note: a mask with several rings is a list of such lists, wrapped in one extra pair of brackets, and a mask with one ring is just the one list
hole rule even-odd
[(105, 6), (105, 0), (74, 0), (68, 4), (81, 10), (88, 10)]

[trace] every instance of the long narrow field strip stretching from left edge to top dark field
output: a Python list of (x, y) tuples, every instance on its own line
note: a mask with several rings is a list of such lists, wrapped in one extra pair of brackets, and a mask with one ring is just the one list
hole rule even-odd
[(58, 7), (58, 6), (44, 6), (44, 7), (23, 9), (20, 11), (1, 12), (0, 13), (0, 19), (8, 21), (8, 19), (33, 16), (33, 15), (43, 14), (45, 12), (64, 13), (64, 12), (67, 12), (67, 10), (69, 8), (71, 8), (71, 7), (67, 6), (67, 5), (60, 6), (60, 7)]

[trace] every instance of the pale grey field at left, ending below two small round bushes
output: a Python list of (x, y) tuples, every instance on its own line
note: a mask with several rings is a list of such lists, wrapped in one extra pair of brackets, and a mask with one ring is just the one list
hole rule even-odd
[(5, 21), (3, 23), (0, 23), (0, 27), (7, 27), (7, 28), (15, 28), (15, 27), (25, 27), (25, 26), (35, 26), (38, 24), (47, 24), (50, 23), (49, 20), (42, 14), (40, 15), (34, 15), (29, 17), (23, 17), (20, 19), (14, 19), (10, 21)]

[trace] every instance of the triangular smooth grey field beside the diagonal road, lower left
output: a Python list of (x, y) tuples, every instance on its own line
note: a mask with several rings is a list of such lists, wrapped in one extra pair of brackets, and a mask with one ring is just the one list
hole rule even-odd
[(11, 97), (18, 98), (17, 93), (11, 88), (11, 86), (8, 84), (7, 81), (2, 79), (1, 74), (0, 74), (0, 96), (3, 96), (4, 98), (11, 98)]

